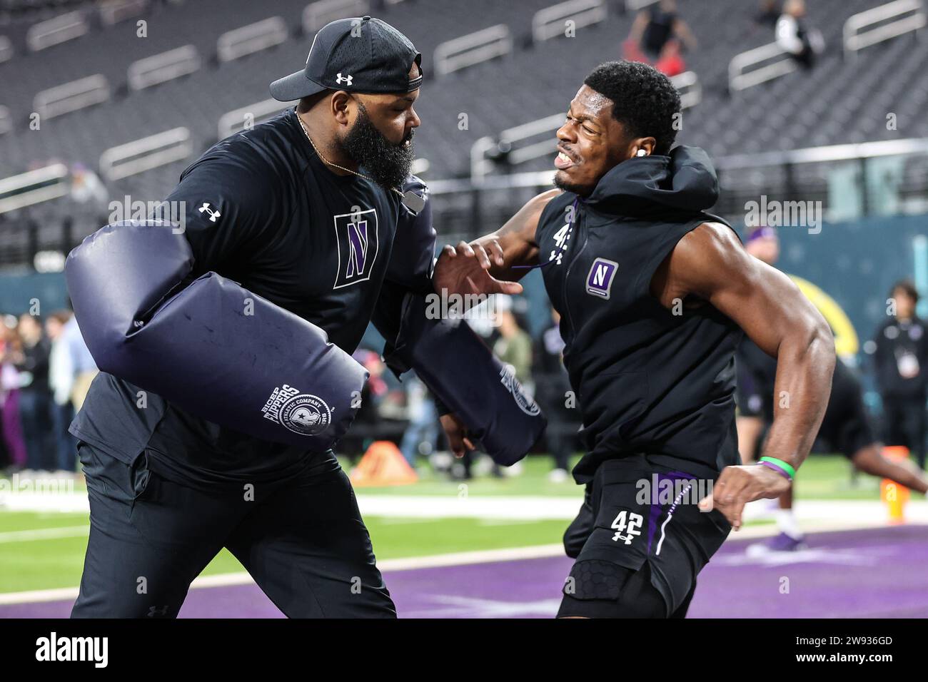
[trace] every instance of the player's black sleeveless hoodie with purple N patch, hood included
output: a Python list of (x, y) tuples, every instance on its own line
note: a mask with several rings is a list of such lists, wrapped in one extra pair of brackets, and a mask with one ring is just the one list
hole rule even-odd
[(674, 315), (650, 293), (680, 238), (702, 223), (725, 223), (703, 212), (717, 197), (705, 152), (677, 147), (624, 161), (588, 198), (565, 192), (541, 214), (541, 271), (561, 313), (564, 365), (583, 413), (578, 483), (592, 480), (601, 461), (634, 453), (699, 477), (738, 463), (741, 329), (707, 304)]

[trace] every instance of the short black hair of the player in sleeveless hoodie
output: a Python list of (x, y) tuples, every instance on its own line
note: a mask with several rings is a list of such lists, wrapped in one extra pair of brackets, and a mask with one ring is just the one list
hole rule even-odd
[(673, 147), (680, 96), (663, 73), (638, 61), (607, 61), (591, 71), (584, 84), (612, 99), (612, 117), (628, 135), (653, 137), (656, 154)]

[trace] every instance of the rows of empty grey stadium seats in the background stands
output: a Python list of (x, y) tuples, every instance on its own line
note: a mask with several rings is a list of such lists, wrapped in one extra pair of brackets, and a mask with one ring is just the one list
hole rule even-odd
[[(423, 53), (427, 81), (417, 104), (423, 121), (417, 133), (417, 149), (419, 156), (430, 161), (427, 178), (468, 174), (474, 141), (565, 110), (588, 71), (602, 61), (621, 58), (622, 42), (633, 16), (625, 13), (624, 3), (614, 0), (609, 3), (608, 18), (579, 29), (576, 38), (561, 37), (532, 45), (532, 15), (554, 3), (372, 3), (373, 14), (406, 32)], [(772, 31), (754, 25), (754, 3), (715, 0), (697, 6), (693, 0), (681, 0), (681, 14), (700, 40), (699, 47), (686, 59), (688, 68), (699, 75), (702, 83), (702, 102), (687, 110), (678, 141), (701, 146), (720, 157), (928, 136), (928, 117), (923, 115), (928, 107), (928, 79), (922, 76), (928, 71), (928, 50), (913, 49), (916, 44), (908, 35), (869, 47), (855, 60), (845, 61), (842, 57), (844, 19), (879, 4), (879, 0), (808, 3), (809, 21), (823, 32), (829, 45), (817, 67), (795, 71), (729, 97), (729, 60), (741, 51), (771, 42)], [(20, 9), (29, 5), (19, 3)], [(15, 54), (0, 63), (0, 105), (10, 110), (14, 130), (0, 135), (0, 177), (49, 161), (81, 162), (96, 169), (106, 148), (177, 126), (191, 131), (195, 154), (207, 148), (216, 141), (217, 121), (223, 113), (266, 99), (271, 80), (303, 64), (309, 42), (301, 29), (305, 5), (305, 0), (278, 0), (273, 4), (250, 0), (152, 0), (141, 16), (148, 22), (146, 38), (136, 37), (135, 18), (112, 26), (93, 21), (86, 35), (35, 53), (27, 49), (24, 35), (30, 22), (48, 18), (47, 10), (7, 13), (6, 24), (0, 22), (0, 35), (10, 39)], [(482, 6), (487, 10), (492, 7), (492, 13), (481, 11)], [(77, 8), (90, 13), (94, 7), (86, 2), (67, 3), (61, 11)], [(220, 34), (271, 16), (287, 22), (290, 40), (233, 61), (216, 60)], [(432, 55), (439, 43), (499, 22), (509, 25), (514, 38), (513, 54), (430, 78)], [(202, 58), (199, 71), (143, 90), (128, 89), (126, 70), (131, 62), (182, 45), (194, 45), (198, 50)], [(108, 79), (112, 92), (109, 101), (46, 120), (41, 133), (29, 130), (37, 92), (95, 73)], [(468, 114), (468, 130), (458, 129), (461, 112)], [(886, 129), (888, 112), (896, 113), (897, 130)], [(810, 130), (814, 131), (811, 135)], [(114, 181), (108, 185), (109, 195), (113, 199), (126, 194), (134, 199), (161, 199), (192, 159)], [(518, 170), (549, 166), (549, 159), (540, 159), (522, 164)], [(741, 182), (748, 180), (739, 178)], [(28, 216), (45, 225), (46, 216), (58, 216), (59, 223), (61, 205), (65, 203), (70, 206), (68, 199), (58, 199), (50, 206), (7, 214), (6, 220), (15, 222)], [(77, 238), (97, 227), (94, 214), (98, 209), (77, 207), (64, 212), (74, 215)], [(40, 241), (55, 243), (59, 232), (59, 226), (49, 227)], [(16, 256), (10, 256), (11, 249), (19, 252), (15, 245), (7, 244), (0, 261), (11, 257), (15, 260)]]

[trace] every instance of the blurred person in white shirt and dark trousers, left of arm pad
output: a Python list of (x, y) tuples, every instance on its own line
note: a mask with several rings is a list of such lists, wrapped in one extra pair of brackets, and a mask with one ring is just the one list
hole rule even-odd
[(56, 470), (73, 473), (77, 458), (77, 439), (68, 432), (74, 408), (71, 405), (71, 390), (74, 387), (74, 365), (71, 348), (65, 336), (65, 326), (71, 321), (71, 313), (59, 311), (48, 315), (45, 333), (51, 341), (48, 358), (48, 387), (52, 392), (50, 405), (52, 415), (52, 437), (55, 441)]

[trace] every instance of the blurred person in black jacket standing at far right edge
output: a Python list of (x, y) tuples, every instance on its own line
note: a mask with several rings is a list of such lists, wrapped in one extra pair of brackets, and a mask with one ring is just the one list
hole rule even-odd
[(915, 315), (918, 291), (909, 281), (897, 282), (891, 298), (896, 315), (877, 329), (873, 364), (883, 396), (887, 445), (905, 445), (925, 468), (925, 400), (928, 398), (928, 337)]

